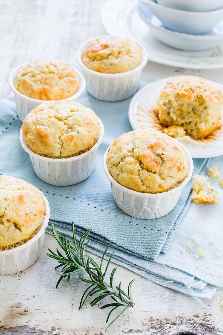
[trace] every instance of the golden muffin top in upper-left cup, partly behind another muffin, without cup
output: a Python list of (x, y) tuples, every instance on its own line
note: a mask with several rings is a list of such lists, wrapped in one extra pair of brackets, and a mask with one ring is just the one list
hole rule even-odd
[(72, 66), (64, 61), (37, 60), (19, 68), (14, 86), (30, 98), (60, 100), (77, 92), (79, 79)]

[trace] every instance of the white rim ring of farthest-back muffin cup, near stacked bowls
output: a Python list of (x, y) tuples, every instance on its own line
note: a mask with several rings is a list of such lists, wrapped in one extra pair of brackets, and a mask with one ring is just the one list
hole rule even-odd
[[(84, 65), (84, 63), (82, 62), (82, 53), (83, 53), (83, 50), (86, 48), (86, 46), (94, 41), (94, 40), (97, 40), (98, 38), (102, 38), (102, 37), (121, 37), (121, 38), (124, 38), (126, 40), (130, 40), (130, 41), (134, 41), (135, 43), (137, 43), (141, 49), (142, 49), (142, 54), (143, 54), (143, 58), (142, 58), (142, 61), (141, 63), (135, 67), (135, 69), (132, 69), (130, 71), (127, 71), (127, 72), (121, 72), (121, 73), (101, 73), (101, 72), (97, 72), (97, 71), (94, 71), (94, 70), (91, 70), (89, 69), (86, 65)], [(124, 77), (124, 76), (127, 76), (127, 75), (131, 75), (132, 73), (134, 72), (137, 72), (138, 70), (140, 69), (143, 69), (145, 66), (146, 66), (146, 63), (148, 62), (148, 53), (147, 53), (147, 50), (146, 48), (141, 44), (139, 43), (138, 41), (132, 39), (132, 38), (128, 38), (126, 36), (120, 36), (120, 35), (99, 35), (99, 36), (95, 36), (87, 41), (85, 41), (84, 43), (82, 43), (80, 45), (80, 47), (78, 48), (77, 50), (77, 61), (78, 61), (78, 64), (80, 65), (80, 67), (84, 70), (84, 72), (88, 72), (88, 73), (91, 73), (95, 76), (99, 76), (99, 77), (103, 77), (103, 78), (115, 78), (115, 77)]]

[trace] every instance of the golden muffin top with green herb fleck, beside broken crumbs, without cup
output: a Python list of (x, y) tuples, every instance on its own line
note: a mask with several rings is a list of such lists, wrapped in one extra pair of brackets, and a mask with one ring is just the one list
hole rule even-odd
[(171, 189), (189, 169), (178, 142), (153, 129), (138, 129), (117, 138), (108, 151), (107, 167), (119, 184), (145, 193)]

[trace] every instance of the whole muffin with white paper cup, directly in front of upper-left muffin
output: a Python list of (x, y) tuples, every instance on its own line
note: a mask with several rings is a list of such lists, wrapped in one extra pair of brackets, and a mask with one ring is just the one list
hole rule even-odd
[(67, 186), (90, 176), (103, 136), (104, 127), (90, 108), (59, 100), (32, 110), (19, 138), (36, 175), (46, 183)]

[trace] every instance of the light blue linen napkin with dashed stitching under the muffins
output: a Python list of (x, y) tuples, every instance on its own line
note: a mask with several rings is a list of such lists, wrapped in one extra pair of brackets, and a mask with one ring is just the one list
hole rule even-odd
[[(215, 288), (209, 287), (208, 280), (196, 279), (198, 276), (190, 271), (190, 267), (184, 270), (181, 266), (178, 270), (173, 261), (171, 267), (175, 269), (171, 270), (170, 275), (167, 267), (158, 261), (167, 252), (190, 206), (191, 183), (183, 189), (176, 207), (159, 219), (132, 218), (114, 202), (102, 159), (106, 148), (116, 137), (132, 130), (128, 120), (130, 100), (107, 103), (94, 99), (86, 92), (81, 96), (80, 103), (92, 108), (103, 122), (105, 138), (99, 147), (92, 175), (80, 184), (57, 187), (44, 183), (35, 175), (28, 154), (21, 148), (18, 139), (21, 122), (16, 116), (14, 98), (10, 96), (0, 103), (0, 173), (22, 178), (41, 189), (50, 202), (50, 222), (55, 223), (65, 235), (70, 235), (72, 220), (79, 233), (91, 227), (92, 252), (100, 254), (104, 244), (112, 241), (112, 247), (116, 250), (115, 262), (118, 264), (167, 287), (188, 293), (189, 285), (198, 296), (210, 297)], [(203, 173), (207, 163), (207, 159), (194, 159), (195, 173)], [(156, 262), (149, 261), (154, 259)], [(212, 285), (215, 286), (214, 281)]]

